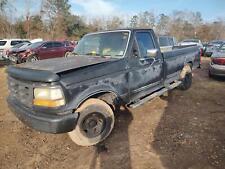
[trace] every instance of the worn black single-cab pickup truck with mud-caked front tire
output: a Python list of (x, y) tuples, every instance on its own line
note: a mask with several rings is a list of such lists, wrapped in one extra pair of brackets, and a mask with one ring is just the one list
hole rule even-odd
[(151, 29), (90, 33), (70, 57), (10, 66), (8, 104), (36, 130), (95, 145), (111, 133), (119, 106), (190, 88), (199, 55), (197, 46), (161, 53)]

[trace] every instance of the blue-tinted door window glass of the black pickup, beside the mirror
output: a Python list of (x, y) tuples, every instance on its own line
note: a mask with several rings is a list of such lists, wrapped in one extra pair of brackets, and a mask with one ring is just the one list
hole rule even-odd
[(137, 32), (136, 39), (138, 42), (141, 57), (147, 57), (147, 50), (155, 49), (153, 39), (149, 32)]

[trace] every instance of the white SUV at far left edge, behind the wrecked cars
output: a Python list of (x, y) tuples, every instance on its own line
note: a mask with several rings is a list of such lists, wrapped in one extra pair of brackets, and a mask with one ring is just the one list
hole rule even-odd
[(0, 60), (3, 59), (3, 56), (5, 55), (6, 50), (23, 42), (29, 42), (29, 41), (24, 39), (1, 39), (0, 40)]

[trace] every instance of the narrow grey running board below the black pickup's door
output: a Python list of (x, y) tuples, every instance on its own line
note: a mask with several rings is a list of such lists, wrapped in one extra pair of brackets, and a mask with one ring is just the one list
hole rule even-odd
[(170, 84), (170, 85), (162, 88), (161, 90), (159, 90), (157, 92), (154, 92), (151, 95), (148, 95), (148, 96), (142, 98), (141, 100), (138, 100), (137, 102), (131, 103), (130, 105), (128, 105), (128, 107), (130, 107), (130, 108), (136, 108), (136, 107), (138, 107), (138, 106), (146, 103), (147, 101), (149, 101), (149, 100), (151, 100), (151, 99), (153, 99), (155, 97), (161, 96), (165, 92), (167, 92), (169, 90), (172, 90), (172, 89), (178, 87), (180, 84), (181, 84), (181, 81), (176, 81), (176, 82), (174, 82), (174, 83), (172, 83), (172, 84)]

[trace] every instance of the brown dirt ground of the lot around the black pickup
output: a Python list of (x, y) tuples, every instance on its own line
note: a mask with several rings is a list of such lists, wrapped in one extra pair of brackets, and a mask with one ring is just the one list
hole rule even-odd
[(209, 79), (208, 62), (194, 71), (190, 90), (117, 113), (112, 134), (96, 147), (24, 126), (7, 107), (0, 68), (0, 168), (224, 169), (225, 79)]

